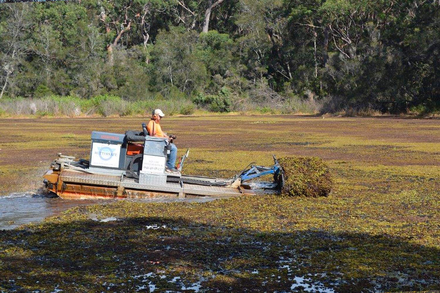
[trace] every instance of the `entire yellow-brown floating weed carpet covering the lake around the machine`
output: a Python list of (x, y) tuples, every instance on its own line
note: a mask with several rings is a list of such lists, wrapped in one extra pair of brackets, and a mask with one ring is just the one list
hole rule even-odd
[[(0, 120), (0, 188), (36, 186), (56, 152), (86, 158), (91, 130), (123, 133), (141, 122)], [(0, 292), (440, 289), (438, 121), (225, 116), (161, 123), (178, 135), (180, 154), (191, 148), (188, 174), (230, 177), (250, 162), (271, 165), (272, 154), (319, 156), (332, 192), (78, 206), (0, 231)]]

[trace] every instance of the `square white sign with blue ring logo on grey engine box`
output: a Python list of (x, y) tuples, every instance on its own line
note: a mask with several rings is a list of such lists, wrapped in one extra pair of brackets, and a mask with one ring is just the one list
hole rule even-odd
[(90, 165), (103, 167), (119, 167), (121, 145), (109, 145), (94, 142), (92, 144), (92, 158)]

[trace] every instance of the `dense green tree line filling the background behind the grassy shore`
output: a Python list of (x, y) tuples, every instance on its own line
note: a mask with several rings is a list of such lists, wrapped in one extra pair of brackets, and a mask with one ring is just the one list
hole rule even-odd
[(0, 6), (0, 99), (440, 109), (439, 0), (70, 0)]

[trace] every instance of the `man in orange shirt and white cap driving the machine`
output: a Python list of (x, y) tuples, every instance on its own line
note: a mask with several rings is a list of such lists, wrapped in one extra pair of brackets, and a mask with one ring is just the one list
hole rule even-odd
[(168, 160), (166, 161), (165, 171), (171, 173), (179, 173), (179, 170), (177, 170), (175, 166), (176, 158), (177, 158), (177, 147), (172, 143), (172, 141), (176, 139), (176, 135), (168, 136), (166, 133), (162, 131), (160, 122), (163, 116), (165, 116), (165, 114), (162, 112), (161, 109), (153, 110), (152, 117), (147, 125), (147, 131), (150, 136), (164, 137), (169, 141), (170, 153), (168, 156)]

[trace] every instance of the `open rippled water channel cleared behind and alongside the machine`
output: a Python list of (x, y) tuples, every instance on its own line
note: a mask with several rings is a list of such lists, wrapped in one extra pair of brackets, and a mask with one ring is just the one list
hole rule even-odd
[[(185, 199), (126, 199), (136, 202), (209, 202), (220, 197), (196, 197)], [(224, 197), (222, 197), (224, 198)], [(118, 199), (124, 200), (124, 199)], [(0, 230), (9, 230), (22, 224), (42, 221), (75, 206), (112, 203), (114, 199), (62, 199), (35, 193), (13, 193), (0, 196)]]

